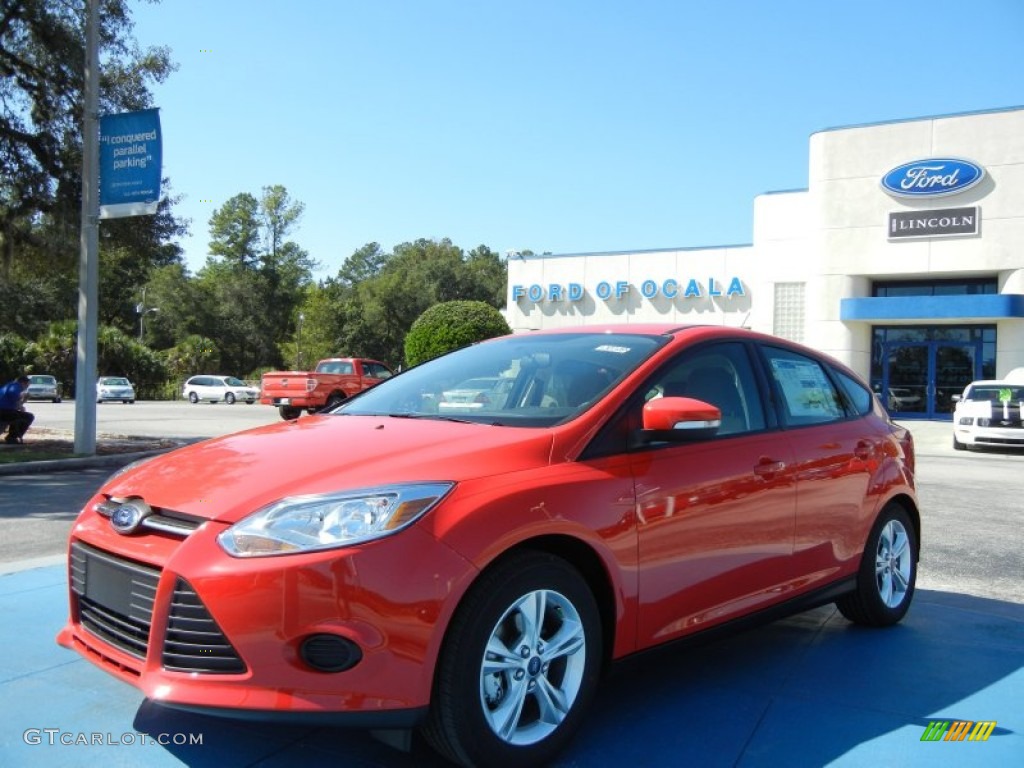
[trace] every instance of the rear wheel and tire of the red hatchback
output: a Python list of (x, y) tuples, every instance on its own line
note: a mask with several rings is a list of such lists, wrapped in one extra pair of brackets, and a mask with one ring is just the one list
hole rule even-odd
[(874, 521), (857, 571), (857, 588), (836, 601), (855, 624), (888, 627), (910, 607), (918, 582), (918, 541), (913, 524), (898, 504), (888, 504)]

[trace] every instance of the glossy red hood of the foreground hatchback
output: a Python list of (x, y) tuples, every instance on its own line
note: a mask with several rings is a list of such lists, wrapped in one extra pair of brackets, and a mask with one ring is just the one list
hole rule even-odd
[(464, 480), (550, 462), (547, 429), (370, 416), (313, 416), (144, 461), (102, 493), (238, 522), (289, 496)]

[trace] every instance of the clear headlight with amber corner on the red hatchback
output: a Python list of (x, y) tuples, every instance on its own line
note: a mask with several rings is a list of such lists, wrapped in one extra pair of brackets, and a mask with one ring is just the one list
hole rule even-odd
[(282, 499), (236, 523), (217, 542), (234, 557), (347, 547), (401, 530), (454, 486), (424, 482)]

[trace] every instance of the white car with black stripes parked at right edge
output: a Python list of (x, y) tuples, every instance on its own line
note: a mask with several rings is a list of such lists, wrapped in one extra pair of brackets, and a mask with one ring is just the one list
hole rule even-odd
[(1024, 449), (1024, 383), (985, 380), (954, 395), (953, 449), (992, 446)]

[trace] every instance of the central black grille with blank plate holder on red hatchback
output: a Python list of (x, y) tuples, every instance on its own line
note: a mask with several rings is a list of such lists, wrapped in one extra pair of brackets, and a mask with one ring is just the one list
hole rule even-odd
[(144, 659), (160, 569), (81, 542), (71, 546), (70, 569), (82, 626), (111, 645)]

